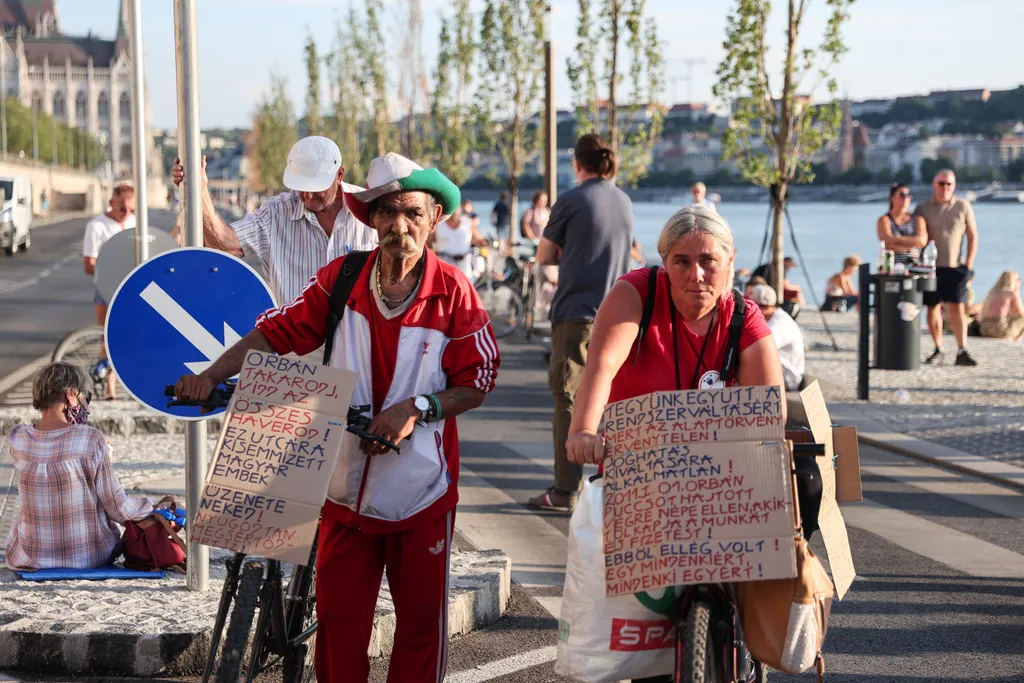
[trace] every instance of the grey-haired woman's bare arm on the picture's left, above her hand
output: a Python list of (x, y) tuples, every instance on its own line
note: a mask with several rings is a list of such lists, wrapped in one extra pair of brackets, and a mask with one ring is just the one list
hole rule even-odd
[(601, 303), (590, 336), (587, 367), (580, 378), (569, 435), (596, 434), (600, 429), (611, 381), (627, 361), (636, 341), (642, 309), (640, 295), (629, 283), (616, 283)]

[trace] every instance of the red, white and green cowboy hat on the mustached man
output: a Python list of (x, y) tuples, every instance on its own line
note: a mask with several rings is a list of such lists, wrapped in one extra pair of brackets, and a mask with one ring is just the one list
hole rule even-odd
[(423, 168), (401, 155), (389, 152), (370, 162), (367, 188), (345, 195), (348, 209), (360, 222), (371, 225), (370, 203), (392, 193), (423, 191), (433, 195), (441, 205), (441, 220), (459, 209), (462, 193), (459, 186), (436, 168)]

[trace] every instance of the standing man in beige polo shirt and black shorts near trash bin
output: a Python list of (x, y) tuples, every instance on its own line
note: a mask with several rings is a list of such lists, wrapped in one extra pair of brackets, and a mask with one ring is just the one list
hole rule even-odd
[[(928, 241), (935, 243), (938, 251), (935, 278), (935, 292), (925, 293), (928, 306), (928, 331), (935, 342), (926, 364), (936, 364), (942, 359), (942, 306), (949, 312), (949, 327), (956, 338), (956, 365), (973, 368), (978, 362), (967, 351), (967, 300), (968, 286), (974, 280), (974, 259), (978, 255), (978, 223), (971, 204), (953, 193), (956, 176), (943, 169), (935, 174), (932, 181), (934, 194), (928, 201), (918, 205), (913, 219), (916, 230), (924, 229)], [(964, 242), (967, 242), (967, 257), (962, 260)]]

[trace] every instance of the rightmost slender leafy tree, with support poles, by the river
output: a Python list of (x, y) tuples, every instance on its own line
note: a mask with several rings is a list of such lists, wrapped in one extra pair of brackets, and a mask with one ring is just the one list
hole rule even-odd
[[(782, 296), (782, 215), (791, 183), (813, 180), (811, 158), (836, 138), (842, 110), (836, 98), (838, 86), (829, 70), (847, 51), (841, 30), (849, 19), (847, 9), (854, 0), (825, 0), (828, 18), (820, 45), (799, 49), (808, 0), (788, 0), (782, 62), (782, 88), (776, 98), (767, 65), (766, 27), (771, 6), (768, 0), (736, 0), (726, 19), (726, 55), (718, 67), (715, 96), (734, 102), (732, 126), (722, 136), (723, 157), (735, 159), (745, 177), (771, 189), (772, 269), (771, 286)], [(820, 63), (819, 63), (820, 60)], [(805, 78), (816, 79), (805, 84)], [(813, 94), (824, 84), (831, 101), (812, 106), (797, 93)], [(755, 141), (763, 143), (756, 144)]]

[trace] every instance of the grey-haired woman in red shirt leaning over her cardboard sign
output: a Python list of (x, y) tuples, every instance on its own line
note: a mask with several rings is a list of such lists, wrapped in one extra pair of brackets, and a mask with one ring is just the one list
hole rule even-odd
[[(724, 368), (737, 296), (732, 291), (736, 250), (725, 219), (705, 207), (682, 209), (662, 230), (657, 251), (665, 265), (656, 274), (627, 273), (597, 311), (566, 443), (571, 462), (604, 459), (599, 432), (607, 403), (654, 391), (783, 386), (778, 349), (751, 301), (744, 301), (736, 360)], [(649, 296), (655, 297), (653, 314), (638, 340)]]

